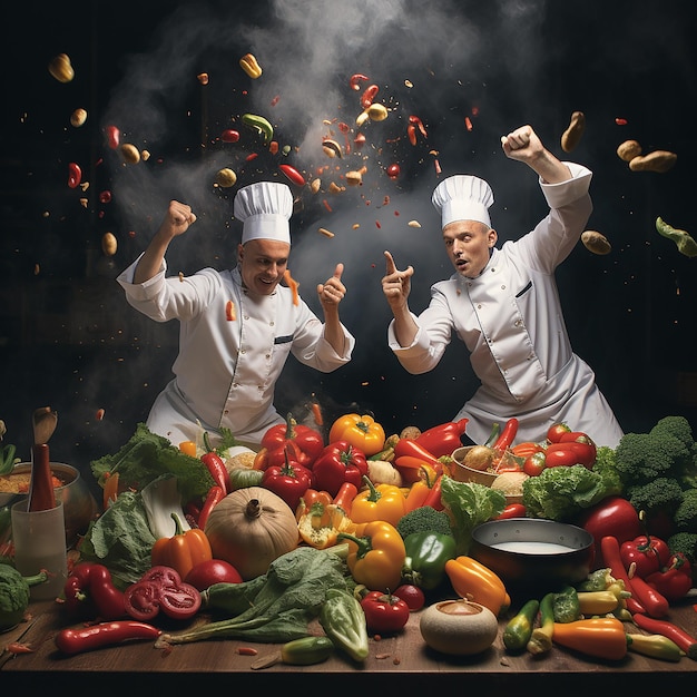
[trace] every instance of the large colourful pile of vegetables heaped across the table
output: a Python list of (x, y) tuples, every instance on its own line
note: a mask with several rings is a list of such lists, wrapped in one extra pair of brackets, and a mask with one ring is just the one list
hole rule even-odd
[[(58, 647), (156, 639), (169, 649), (236, 637), (284, 645), (255, 669), (320, 662), (334, 650), (361, 662), (369, 634), (399, 632), (423, 609), (424, 641), (443, 647), (441, 632), (463, 632), (462, 652), (490, 646), (491, 615), (507, 620), (511, 651), (543, 654), (558, 644), (602, 658), (627, 650), (696, 658), (697, 642), (668, 630), (666, 617), (691, 588), (697, 543), (697, 445), (687, 421), (665, 418), (616, 450), (566, 424), (539, 443), (516, 443), (514, 419), (494, 424), (481, 462), (521, 475), (516, 504), (493, 485), (451, 475), (465, 425), (386, 435), (371, 415), (345, 414), (325, 442), (288, 414), (252, 451), (227, 431), (215, 446), (207, 433), (176, 446), (138, 424), (115, 454), (92, 462), (105, 507), (66, 585), (71, 626)], [(657, 479), (661, 497), (651, 493)], [(478, 524), (517, 516), (587, 527), (607, 568), (578, 588), (511, 607), (503, 581), (469, 550)], [(664, 537), (656, 530), (666, 520)], [(610, 538), (634, 560), (627, 551), (618, 565)], [(453, 593), (460, 600), (436, 610), (435, 600)], [(192, 626), (199, 612), (209, 621)], [(86, 620), (89, 628), (75, 626)], [(308, 636), (312, 620), (325, 636)], [(635, 637), (629, 625), (664, 639)], [(595, 638), (579, 644), (583, 636)]]

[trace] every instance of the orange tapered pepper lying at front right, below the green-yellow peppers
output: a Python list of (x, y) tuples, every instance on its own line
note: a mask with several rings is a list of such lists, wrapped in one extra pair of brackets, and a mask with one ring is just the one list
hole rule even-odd
[(608, 660), (620, 660), (627, 655), (625, 626), (621, 620), (610, 617), (554, 622), (552, 642)]

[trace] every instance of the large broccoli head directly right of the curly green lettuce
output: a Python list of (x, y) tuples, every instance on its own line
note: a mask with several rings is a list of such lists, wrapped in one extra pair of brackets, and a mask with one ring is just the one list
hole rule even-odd
[(659, 477), (677, 478), (693, 464), (687, 445), (665, 429), (625, 433), (615, 450), (615, 463), (625, 487), (645, 484)]

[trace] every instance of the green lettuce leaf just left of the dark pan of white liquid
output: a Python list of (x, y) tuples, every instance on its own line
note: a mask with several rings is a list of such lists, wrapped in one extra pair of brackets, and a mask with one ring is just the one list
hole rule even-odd
[(477, 526), (500, 516), (505, 508), (505, 495), (500, 491), (475, 482), (459, 482), (446, 474), (441, 480), (441, 500), (453, 520), (458, 554), (470, 551)]

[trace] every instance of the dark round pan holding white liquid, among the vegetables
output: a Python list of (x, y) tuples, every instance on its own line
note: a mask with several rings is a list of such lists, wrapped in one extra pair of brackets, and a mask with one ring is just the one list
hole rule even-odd
[(579, 583), (590, 572), (595, 554), (590, 532), (552, 520), (491, 520), (472, 531), (470, 556), (494, 571), (507, 588), (536, 592)]

